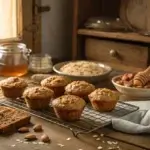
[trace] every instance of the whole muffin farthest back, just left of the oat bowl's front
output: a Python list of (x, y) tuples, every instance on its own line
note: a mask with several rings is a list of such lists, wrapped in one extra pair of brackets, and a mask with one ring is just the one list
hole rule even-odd
[(50, 76), (41, 81), (41, 86), (52, 89), (56, 98), (64, 95), (68, 83), (70, 83), (69, 79), (64, 76)]

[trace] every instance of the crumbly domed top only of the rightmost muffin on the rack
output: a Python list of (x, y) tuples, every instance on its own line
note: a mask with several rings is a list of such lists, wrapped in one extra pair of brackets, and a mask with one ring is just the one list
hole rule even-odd
[(116, 101), (119, 99), (119, 95), (117, 94), (117, 92), (112, 91), (112, 90), (107, 89), (107, 88), (98, 88), (95, 91), (93, 91), (91, 94), (89, 94), (88, 97), (91, 101), (95, 101), (95, 100), (98, 100), (98, 101), (115, 100)]

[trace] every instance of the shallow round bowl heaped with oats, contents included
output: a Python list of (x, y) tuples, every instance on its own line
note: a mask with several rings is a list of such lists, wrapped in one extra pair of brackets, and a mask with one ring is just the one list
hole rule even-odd
[(71, 80), (98, 83), (109, 76), (112, 68), (100, 62), (77, 60), (58, 63), (53, 66), (53, 70), (59, 75), (69, 77)]

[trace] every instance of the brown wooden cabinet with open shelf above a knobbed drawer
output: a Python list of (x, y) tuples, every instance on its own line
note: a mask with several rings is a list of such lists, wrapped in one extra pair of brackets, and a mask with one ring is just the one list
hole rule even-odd
[(149, 65), (149, 36), (135, 32), (103, 32), (83, 26), (89, 17), (119, 17), (120, 2), (74, 0), (73, 59), (101, 61), (124, 71), (139, 71)]

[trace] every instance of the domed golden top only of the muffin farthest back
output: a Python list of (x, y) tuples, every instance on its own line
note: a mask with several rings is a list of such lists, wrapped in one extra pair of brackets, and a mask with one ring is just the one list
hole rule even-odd
[(41, 85), (48, 88), (66, 86), (68, 83), (69, 79), (64, 76), (50, 76), (41, 81)]

